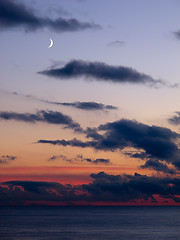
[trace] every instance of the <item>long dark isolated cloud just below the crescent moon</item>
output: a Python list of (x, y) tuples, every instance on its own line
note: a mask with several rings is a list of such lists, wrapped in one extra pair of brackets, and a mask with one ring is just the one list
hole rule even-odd
[(96, 81), (108, 81), (114, 83), (136, 83), (157, 86), (164, 84), (161, 80), (155, 80), (151, 76), (137, 72), (133, 68), (123, 66), (110, 66), (102, 62), (85, 62), (73, 60), (62, 68), (54, 68), (39, 72), (49, 77), (59, 79), (73, 79), (86, 77)]

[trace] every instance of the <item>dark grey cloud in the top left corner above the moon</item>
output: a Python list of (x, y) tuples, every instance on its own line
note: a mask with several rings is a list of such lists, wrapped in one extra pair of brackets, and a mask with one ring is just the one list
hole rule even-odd
[(22, 28), (26, 31), (49, 28), (56, 32), (78, 31), (88, 28), (100, 28), (99, 25), (80, 22), (77, 19), (43, 18), (35, 15), (31, 9), (12, 0), (0, 0), (0, 27), (1, 29)]

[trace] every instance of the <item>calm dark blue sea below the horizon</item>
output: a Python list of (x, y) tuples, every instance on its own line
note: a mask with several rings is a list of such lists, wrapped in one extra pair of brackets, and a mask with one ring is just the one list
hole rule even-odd
[(1, 240), (180, 240), (180, 207), (0, 208)]

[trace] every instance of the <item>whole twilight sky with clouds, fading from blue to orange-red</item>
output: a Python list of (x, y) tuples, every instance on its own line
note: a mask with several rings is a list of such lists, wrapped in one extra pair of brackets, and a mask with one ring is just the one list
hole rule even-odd
[(179, 10), (0, 0), (0, 205), (179, 204)]

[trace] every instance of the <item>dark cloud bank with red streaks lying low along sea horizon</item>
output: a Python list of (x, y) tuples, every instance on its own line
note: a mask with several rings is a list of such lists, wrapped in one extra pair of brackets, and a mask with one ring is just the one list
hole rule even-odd
[(138, 200), (144, 203), (154, 202), (159, 195), (164, 202), (180, 201), (180, 179), (148, 177), (134, 175), (110, 175), (104, 172), (91, 174), (93, 181), (89, 184), (72, 186), (57, 182), (9, 181), (0, 186), (0, 205), (39, 204), (41, 201), (55, 204), (78, 205), (81, 202), (126, 202)]

